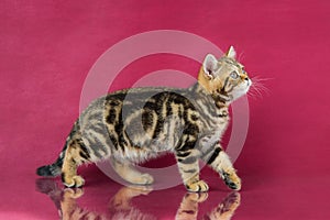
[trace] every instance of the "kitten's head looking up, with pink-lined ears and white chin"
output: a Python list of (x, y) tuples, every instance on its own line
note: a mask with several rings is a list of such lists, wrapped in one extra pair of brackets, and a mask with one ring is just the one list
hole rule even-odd
[(198, 82), (209, 94), (226, 102), (245, 95), (252, 85), (244, 66), (237, 62), (235, 55), (232, 46), (220, 59), (208, 54), (198, 76)]

